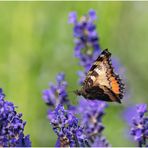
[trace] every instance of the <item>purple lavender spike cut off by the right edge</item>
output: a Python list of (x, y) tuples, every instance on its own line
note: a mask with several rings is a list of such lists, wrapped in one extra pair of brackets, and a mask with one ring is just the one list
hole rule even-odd
[(133, 118), (132, 127), (130, 134), (134, 137), (134, 140), (138, 142), (138, 146), (148, 146), (148, 117), (145, 116), (147, 113), (147, 105), (137, 105), (137, 114)]

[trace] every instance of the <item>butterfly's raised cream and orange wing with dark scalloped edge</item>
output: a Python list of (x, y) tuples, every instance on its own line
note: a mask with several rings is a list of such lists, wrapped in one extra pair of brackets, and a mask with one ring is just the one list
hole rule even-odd
[(120, 102), (123, 98), (124, 84), (114, 73), (110, 57), (111, 53), (107, 49), (100, 54), (86, 76), (84, 87), (99, 87), (112, 101)]

